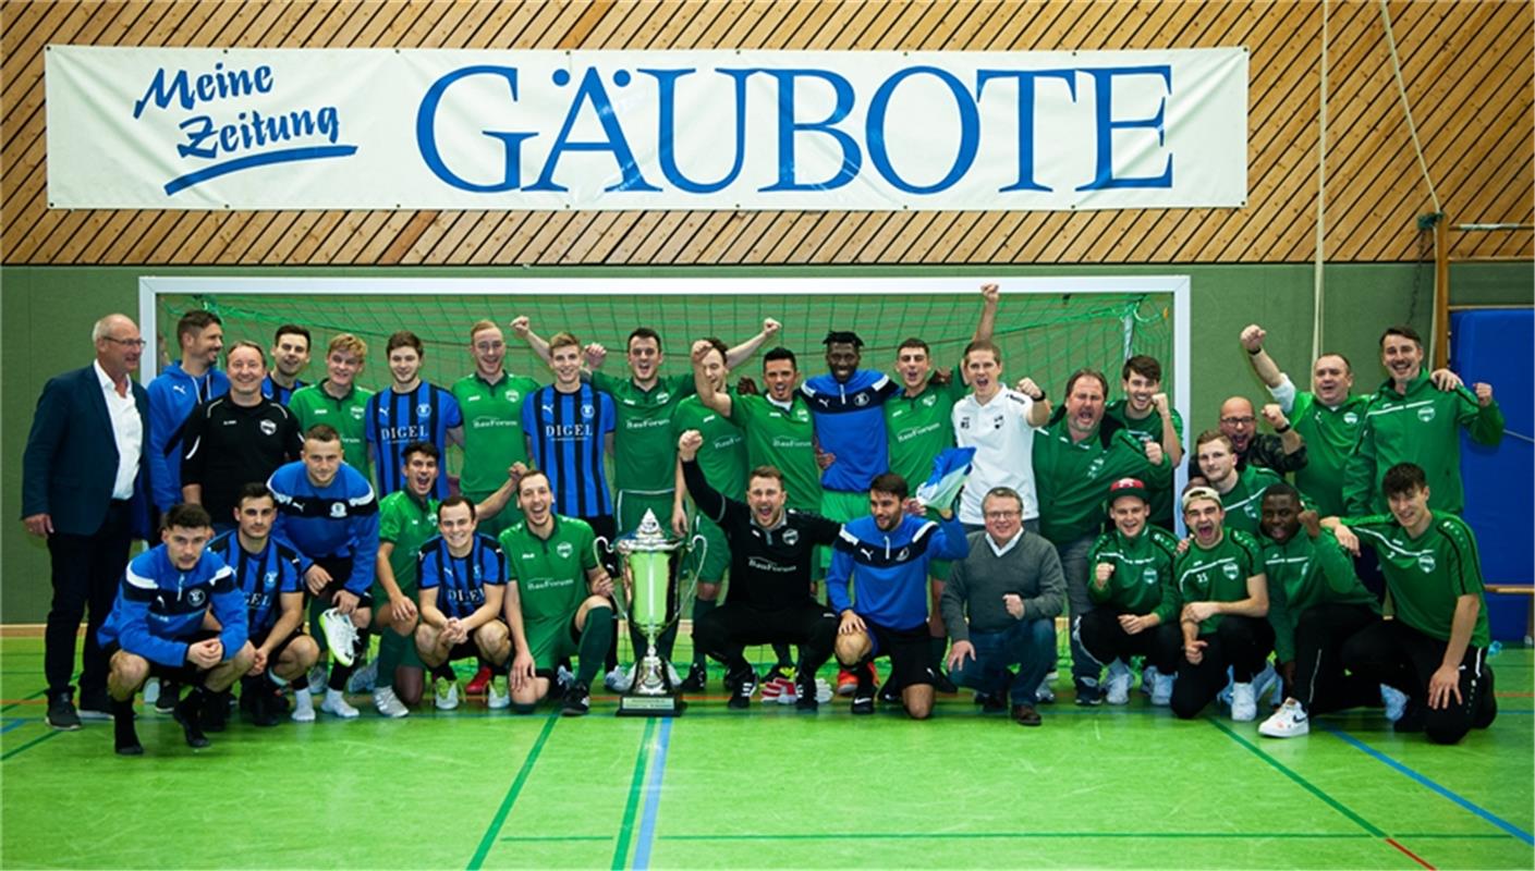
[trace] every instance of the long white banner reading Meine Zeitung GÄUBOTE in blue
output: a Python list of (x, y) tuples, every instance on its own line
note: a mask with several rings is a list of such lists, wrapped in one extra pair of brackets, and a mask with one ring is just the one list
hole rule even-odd
[(1246, 49), (49, 46), (57, 209), (1246, 201)]

